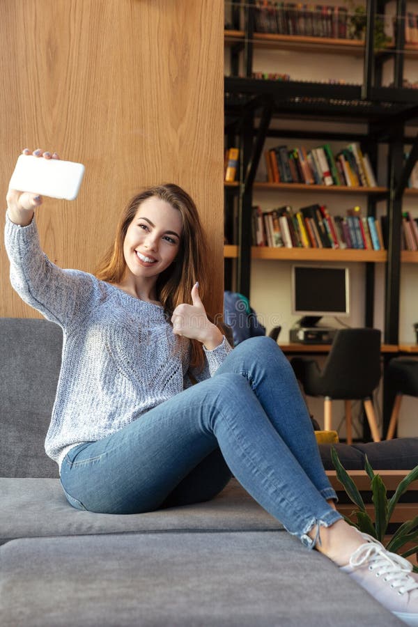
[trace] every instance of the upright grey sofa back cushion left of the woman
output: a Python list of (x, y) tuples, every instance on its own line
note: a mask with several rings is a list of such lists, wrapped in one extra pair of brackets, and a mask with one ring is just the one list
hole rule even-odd
[(58, 477), (47, 457), (63, 334), (47, 320), (0, 318), (0, 477)]

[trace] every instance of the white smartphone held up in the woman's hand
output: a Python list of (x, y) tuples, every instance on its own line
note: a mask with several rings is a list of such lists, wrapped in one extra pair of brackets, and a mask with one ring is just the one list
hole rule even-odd
[(20, 155), (10, 179), (10, 189), (65, 200), (77, 198), (84, 165), (60, 159)]

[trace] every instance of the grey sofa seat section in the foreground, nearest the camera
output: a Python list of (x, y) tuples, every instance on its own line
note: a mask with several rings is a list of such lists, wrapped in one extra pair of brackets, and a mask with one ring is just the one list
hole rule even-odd
[(0, 562), (3, 627), (401, 625), (285, 532), (20, 539)]

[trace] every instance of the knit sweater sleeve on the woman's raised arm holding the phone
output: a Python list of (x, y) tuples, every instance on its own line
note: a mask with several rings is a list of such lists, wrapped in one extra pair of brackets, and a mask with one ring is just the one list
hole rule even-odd
[(24, 302), (62, 327), (86, 315), (93, 277), (86, 272), (62, 270), (49, 261), (40, 248), (34, 219), (28, 226), (20, 226), (6, 213), (4, 237), (10, 282)]

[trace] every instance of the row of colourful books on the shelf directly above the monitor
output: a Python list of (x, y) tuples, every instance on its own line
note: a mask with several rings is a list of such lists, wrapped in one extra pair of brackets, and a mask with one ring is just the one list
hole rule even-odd
[(383, 250), (382, 226), (378, 219), (363, 217), (358, 207), (346, 216), (332, 216), (325, 205), (309, 205), (294, 211), (283, 206), (272, 211), (253, 208), (254, 246), (286, 248), (334, 248)]

